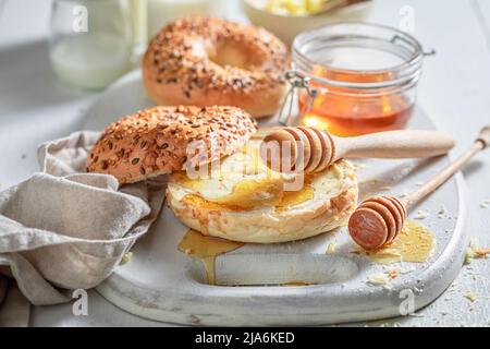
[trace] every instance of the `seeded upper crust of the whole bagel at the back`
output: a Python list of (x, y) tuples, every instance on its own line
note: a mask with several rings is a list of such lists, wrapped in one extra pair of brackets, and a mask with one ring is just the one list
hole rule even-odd
[(167, 25), (146, 56), (158, 83), (183, 84), (187, 95), (204, 86), (253, 93), (283, 84), (290, 65), (287, 47), (266, 29), (206, 16)]

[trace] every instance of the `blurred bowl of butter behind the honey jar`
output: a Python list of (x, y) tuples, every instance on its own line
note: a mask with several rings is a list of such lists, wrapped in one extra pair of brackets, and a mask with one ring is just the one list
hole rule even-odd
[(252, 24), (265, 27), (285, 44), (307, 29), (334, 22), (364, 22), (369, 0), (241, 0)]

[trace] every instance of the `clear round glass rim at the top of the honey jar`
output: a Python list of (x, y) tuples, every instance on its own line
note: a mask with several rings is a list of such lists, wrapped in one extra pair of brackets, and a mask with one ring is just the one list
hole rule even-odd
[(327, 86), (354, 89), (414, 84), (422, 58), (412, 35), (379, 24), (329, 24), (299, 34), (293, 43), (296, 70)]

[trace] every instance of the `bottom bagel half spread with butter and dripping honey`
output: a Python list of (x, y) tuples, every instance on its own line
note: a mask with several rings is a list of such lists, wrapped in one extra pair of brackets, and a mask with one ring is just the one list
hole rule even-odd
[(347, 220), (358, 194), (348, 161), (305, 174), (301, 190), (284, 191), (298, 174), (268, 169), (258, 155), (260, 142), (252, 139), (208, 178), (173, 173), (167, 202), (181, 221), (206, 236), (272, 243), (313, 237)]

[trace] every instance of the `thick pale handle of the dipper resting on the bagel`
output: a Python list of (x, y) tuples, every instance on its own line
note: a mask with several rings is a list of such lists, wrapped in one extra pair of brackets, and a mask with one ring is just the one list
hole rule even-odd
[(357, 137), (335, 137), (335, 160), (343, 157), (409, 158), (442, 155), (454, 137), (438, 131), (388, 131)]

